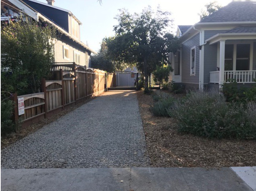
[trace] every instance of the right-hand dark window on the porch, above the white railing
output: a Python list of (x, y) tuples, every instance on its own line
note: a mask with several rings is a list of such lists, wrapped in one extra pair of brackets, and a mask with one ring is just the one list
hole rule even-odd
[(250, 44), (237, 45), (236, 70), (249, 70)]

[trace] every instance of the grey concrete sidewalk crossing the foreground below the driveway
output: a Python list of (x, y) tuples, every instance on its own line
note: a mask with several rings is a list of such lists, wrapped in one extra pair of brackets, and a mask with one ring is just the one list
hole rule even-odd
[(256, 167), (238, 168), (254, 170), (251, 188), (231, 168), (34, 168), (1, 169), (1, 190), (252, 191)]

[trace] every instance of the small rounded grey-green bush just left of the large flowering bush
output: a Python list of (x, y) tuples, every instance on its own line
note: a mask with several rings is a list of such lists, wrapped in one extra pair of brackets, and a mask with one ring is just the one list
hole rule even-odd
[(174, 105), (174, 102), (175, 100), (173, 97), (159, 99), (158, 102), (155, 102), (153, 106), (150, 107), (150, 111), (155, 116), (170, 116), (168, 110)]

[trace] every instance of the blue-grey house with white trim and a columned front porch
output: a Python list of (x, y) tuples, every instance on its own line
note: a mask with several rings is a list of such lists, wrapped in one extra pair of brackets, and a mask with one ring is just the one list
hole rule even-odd
[(170, 80), (185, 88), (216, 88), (256, 78), (256, 2), (233, 1), (193, 26), (178, 26)]

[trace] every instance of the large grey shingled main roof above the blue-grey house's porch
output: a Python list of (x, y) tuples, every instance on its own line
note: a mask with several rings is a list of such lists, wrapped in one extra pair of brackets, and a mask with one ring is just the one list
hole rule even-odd
[(199, 23), (256, 21), (256, 1), (232, 1)]

